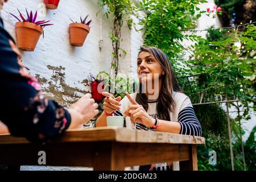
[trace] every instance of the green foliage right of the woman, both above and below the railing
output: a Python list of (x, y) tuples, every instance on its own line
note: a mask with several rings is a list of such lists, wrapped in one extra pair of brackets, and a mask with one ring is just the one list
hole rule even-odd
[[(228, 98), (240, 98), (240, 104), (237, 107), (244, 112), (241, 117), (232, 119), (231, 122), (234, 167), (236, 170), (243, 170), (238, 121), (241, 118), (250, 118), (249, 102), (253, 104), (251, 109), (255, 110), (255, 26), (249, 25), (242, 32), (209, 31), (208, 39), (201, 39), (192, 48), (194, 56), (191, 56), (187, 66), (193, 68), (193, 72), (189, 74), (199, 75), (199, 77), (195, 81), (190, 81), (189, 85), (184, 84), (184, 89), (192, 100), (201, 92), (214, 93), (215, 96), (222, 98), (226, 95)], [(183, 79), (180, 80), (184, 83)], [(231, 103), (231, 105), (234, 104)], [(201, 121), (204, 137), (207, 138), (207, 144), (204, 147), (199, 146), (199, 169), (201, 170), (231, 169), (226, 114), (221, 110), (220, 106), (203, 106), (195, 110)], [(211, 118), (212, 116), (214, 118)], [(253, 146), (253, 143), (245, 144), (247, 169), (252, 167), (252, 159), (255, 158), (255, 150), (251, 150), (249, 146)], [(217, 166), (214, 167), (208, 163), (210, 149), (217, 152)]]

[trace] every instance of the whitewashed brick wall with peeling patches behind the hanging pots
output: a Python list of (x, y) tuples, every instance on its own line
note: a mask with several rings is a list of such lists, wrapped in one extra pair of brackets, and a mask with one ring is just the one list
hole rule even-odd
[[(6, 30), (15, 38), (16, 20), (9, 13), (18, 14), (16, 10), (18, 8), (23, 15), (26, 15), (25, 7), (34, 12), (40, 11), (42, 2), (42, 0), (11, 0), (6, 3), (1, 15)], [(54, 26), (44, 28), (44, 39), (43, 36), (40, 37), (34, 52), (22, 52), (23, 64), (30, 69), (31, 75), (39, 78), (47, 96), (63, 105), (68, 105), (84, 93), (90, 92), (88, 82), (90, 73), (95, 76), (100, 71), (110, 70), (112, 43), (109, 34), (112, 19), (102, 15), (101, 21), (100, 14), (96, 15), (100, 10), (97, 0), (61, 0), (58, 9), (47, 10), (46, 17), (38, 17), (38, 20), (51, 20)], [(93, 21), (90, 33), (83, 47), (73, 47), (69, 44), (68, 25), (71, 23), (69, 18), (79, 21), (80, 15), (85, 17), (87, 14)], [(135, 38), (131, 40), (133, 31), (124, 24), (121, 47), (127, 51), (127, 54), (122, 55), (119, 64), (120, 72), (126, 75), (134, 71), (131, 65), (136, 61), (134, 56), (131, 56), (131, 46), (139, 47), (142, 44), (141, 34), (134, 34)], [(102, 51), (98, 48), (100, 32), (104, 40)]]

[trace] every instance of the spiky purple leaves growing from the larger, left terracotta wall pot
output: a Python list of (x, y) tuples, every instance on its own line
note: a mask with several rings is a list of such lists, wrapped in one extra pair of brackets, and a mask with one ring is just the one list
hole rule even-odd
[(30, 14), (28, 14), (27, 9), (26, 9), (26, 12), (27, 12), (27, 19), (24, 18), (24, 16), (20, 13), (20, 11), (19, 11), (20, 19), (18, 18), (18, 16), (15, 16), (14, 14), (11, 14), (11, 13), (10, 14), (12, 16), (14, 16), (14, 18), (16, 18), (19, 22), (35, 23), (35, 24), (41, 26), (42, 28), (53, 25), (53, 24), (48, 23), (50, 20), (48, 20), (48, 21), (46, 21), (46, 20), (36, 21), (36, 18), (38, 16), (38, 11), (36, 11), (36, 13), (34, 15), (33, 15), (32, 11), (30, 11)]

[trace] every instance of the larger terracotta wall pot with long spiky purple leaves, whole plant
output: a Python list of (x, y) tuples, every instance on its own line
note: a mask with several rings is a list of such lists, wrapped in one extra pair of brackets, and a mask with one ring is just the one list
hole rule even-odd
[(52, 24), (47, 24), (49, 21), (46, 20), (36, 21), (36, 17), (38, 15), (37, 11), (34, 15), (32, 11), (30, 11), (30, 14), (28, 14), (27, 9), (26, 12), (27, 19), (24, 18), (20, 11), (20, 19), (18, 16), (11, 13), (10, 14), (18, 20), (18, 22), (15, 24), (18, 48), (23, 51), (34, 51), (40, 35), (43, 33), (43, 28), (46, 26), (51, 26)]

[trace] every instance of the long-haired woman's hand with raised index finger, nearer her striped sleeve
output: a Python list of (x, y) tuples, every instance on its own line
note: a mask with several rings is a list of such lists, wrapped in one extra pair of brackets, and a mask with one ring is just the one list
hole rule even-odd
[(129, 93), (126, 93), (126, 96), (132, 105), (128, 106), (125, 110), (125, 117), (130, 117), (132, 123), (142, 123), (142, 125), (147, 127), (154, 126), (155, 119), (147, 114), (147, 111), (143, 108), (143, 106), (134, 101)]

